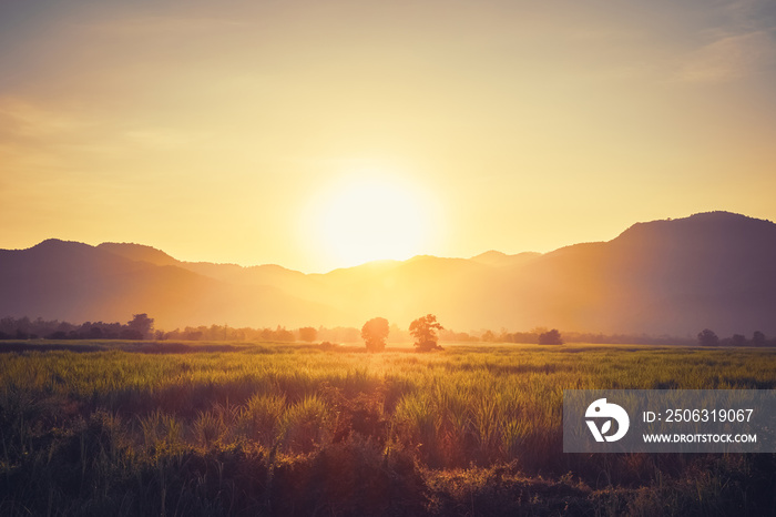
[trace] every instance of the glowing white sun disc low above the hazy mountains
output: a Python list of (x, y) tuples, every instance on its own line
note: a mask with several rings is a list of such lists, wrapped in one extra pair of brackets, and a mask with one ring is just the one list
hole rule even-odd
[(320, 200), (320, 244), (340, 267), (421, 254), (431, 239), (426, 197), (405, 179), (351, 174)]

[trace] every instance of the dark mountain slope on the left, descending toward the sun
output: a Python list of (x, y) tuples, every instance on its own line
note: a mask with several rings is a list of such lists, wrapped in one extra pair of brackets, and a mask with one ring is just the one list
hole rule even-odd
[[(122, 253), (113, 253), (116, 250)], [(216, 322), (303, 325), (306, 314), (343, 317), (272, 285), (224, 282), (188, 271), (177, 261), (156, 265), (149, 258), (161, 258), (163, 253), (150, 250), (49, 240), (29, 250), (0, 251), (0, 314), (124, 322), (132, 314), (149, 313), (167, 330)]]

